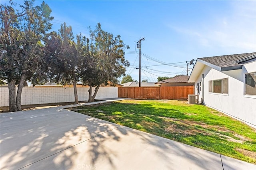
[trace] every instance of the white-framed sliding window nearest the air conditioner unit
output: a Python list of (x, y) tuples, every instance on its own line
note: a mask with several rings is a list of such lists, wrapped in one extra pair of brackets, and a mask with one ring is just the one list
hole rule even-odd
[(228, 94), (228, 78), (210, 80), (209, 81), (209, 92), (210, 93), (221, 93)]

